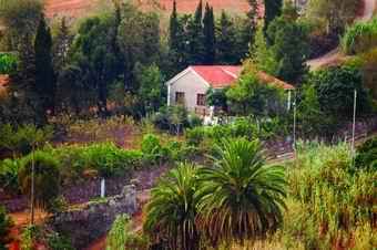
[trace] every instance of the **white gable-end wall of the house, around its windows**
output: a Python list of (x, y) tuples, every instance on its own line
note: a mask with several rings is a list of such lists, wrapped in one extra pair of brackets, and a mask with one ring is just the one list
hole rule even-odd
[(205, 94), (208, 85), (201, 77), (193, 72), (187, 72), (182, 77), (177, 79), (169, 86), (169, 101), (170, 105), (175, 104), (175, 93), (184, 92), (184, 103), (188, 110), (195, 112), (203, 110), (205, 106), (197, 106), (197, 94)]

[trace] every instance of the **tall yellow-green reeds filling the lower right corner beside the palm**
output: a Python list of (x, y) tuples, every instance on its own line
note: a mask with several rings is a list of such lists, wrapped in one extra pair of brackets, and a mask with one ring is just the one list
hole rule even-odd
[(318, 145), (287, 164), (294, 207), (283, 235), (306, 248), (373, 248), (376, 177), (354, 168), (349, 150), (345, 143)]

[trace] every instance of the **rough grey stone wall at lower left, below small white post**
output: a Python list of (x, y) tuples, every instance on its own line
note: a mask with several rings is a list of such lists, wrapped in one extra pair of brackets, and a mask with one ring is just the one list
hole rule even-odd
[(81, 249), (105, 235), (118, 215), (133, 216), (137, 209), (136, 188), (130, 185), (122, 189), (121, 195), (105, 201), (89, 202), (81, 209), (57, 215), (49, 225)]

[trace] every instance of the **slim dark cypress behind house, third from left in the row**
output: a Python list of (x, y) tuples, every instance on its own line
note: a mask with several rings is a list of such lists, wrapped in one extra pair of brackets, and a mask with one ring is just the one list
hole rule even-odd
[(203, 63), (204, 64), (213, 64), (215, 62), (216, 51), (216, 37), (215, 37), (215, 23), (213, 15), (213, 8), (205, 4), (205, 13), (203, 18)]

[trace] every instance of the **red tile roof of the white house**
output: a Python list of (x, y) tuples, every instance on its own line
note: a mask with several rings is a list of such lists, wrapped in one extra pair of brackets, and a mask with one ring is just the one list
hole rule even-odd
[[(214, 87), (224, 87), (234, 85), (242, 72), (242, 66), (230, 65), (193, 65), (190, 66), (196, 74)], [(267, 81), (284, 90), (294, 90), (295, 87), (264, 72), (258, 72), (259, 79)]]

